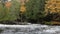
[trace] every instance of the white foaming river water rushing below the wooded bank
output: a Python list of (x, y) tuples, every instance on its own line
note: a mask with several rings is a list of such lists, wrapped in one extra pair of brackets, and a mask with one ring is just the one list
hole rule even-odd
[(0, 34), (60, 34), (60, 26), (0, 24)]

